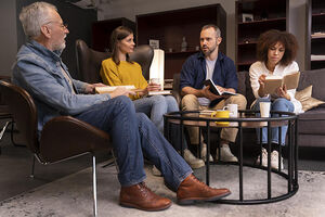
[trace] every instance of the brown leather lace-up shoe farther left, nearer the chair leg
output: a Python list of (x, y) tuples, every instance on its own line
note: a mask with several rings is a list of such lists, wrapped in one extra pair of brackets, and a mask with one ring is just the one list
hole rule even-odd
[(171, 206), (171, 201), (155, 194), (144, 182), (141, 182), (122, 187), (119, 193), (119, 204), (142, 210), (164, 210)]

